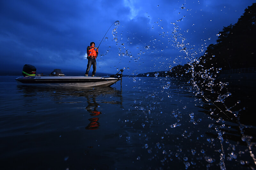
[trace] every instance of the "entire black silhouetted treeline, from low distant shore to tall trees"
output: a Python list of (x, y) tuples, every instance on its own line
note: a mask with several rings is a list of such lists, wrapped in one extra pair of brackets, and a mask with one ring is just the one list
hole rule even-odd
[[(197, 62), (172, 67), (170, 71), (149, 72), (138, 77), (191, 77), (200, 73), (255, 67), (256, 3), (248, 6), (237, 23), (224, 27), (215, 44), (210, 44)], [(199, 61), (199, 62), (198, 62)]]

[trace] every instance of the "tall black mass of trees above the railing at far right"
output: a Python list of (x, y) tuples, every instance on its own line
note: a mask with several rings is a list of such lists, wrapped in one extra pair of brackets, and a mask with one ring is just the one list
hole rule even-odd
[(205, 69), (223, 70), (255, 66), (256, 3), (248, 6), (235, 25), (223, 27), (216, 44), (211, 44), (202, 57)]

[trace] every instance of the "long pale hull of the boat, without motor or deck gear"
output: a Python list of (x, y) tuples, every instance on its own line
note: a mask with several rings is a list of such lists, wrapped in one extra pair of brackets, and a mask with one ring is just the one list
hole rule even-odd
[(94, 87), (111, 86), (120, 78), (78, 77), (78, 76), (31, 76), (15, 79), (18, 85)]

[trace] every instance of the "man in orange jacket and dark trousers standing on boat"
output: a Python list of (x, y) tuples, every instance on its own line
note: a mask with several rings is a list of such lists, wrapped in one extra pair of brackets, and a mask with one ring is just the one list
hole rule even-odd
[(96, 73), (96, 57), (98, 56), (98, 48), (95, 48), (95, 43), (91, 42), (90, 46), (87, 47), (87, 59), (88, 59), (88, 64), (87, 64), (87, 69), (85, 76), (88, 76), (89, 70), (92, 66), (93, 71), (92, 71), (92, 77), (94, 77)]

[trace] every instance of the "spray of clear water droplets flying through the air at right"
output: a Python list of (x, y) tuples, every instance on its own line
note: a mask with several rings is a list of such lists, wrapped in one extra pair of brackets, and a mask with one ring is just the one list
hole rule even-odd
[[(188, 10), (190, 10), (190, 9), (186, 9), (186, 7), (184, 7), (184, 4), (182, 4), (182, 6), (181, 6), (181, 9), (182, 9), (182, 12), (184, 12), (184, 11), (188, 11)], [(183, 10), (183, 9), (186, 9), (186, 10)], [(193, 89), (195, 89), (196, 90), (196, 92), (194, 91), (194, 93), (195, 93), (195, 95), (196, 96), (203, 96), (203, 98), (206, 100), (206, 101), (208, 101), (208, 102), (210, 102), (211, 104), (214, 104), (214, 102), (219, 102), (219, 103), (222, 103), (222, 104), (224, 104), (225, 103), (225, 100), (228, 98), (228, 97), (230, 97), (231, 96), (231, 93), (229, 93), (229, 92), (227, 92), (227, 93), (225, 93), (225, 94), (222, 94), (222, 93), (219, 93), (219, 92), (216, 92), (215, 90), (214, 90), (214, 88), (216, 87), (216, 86), (220, 86), (220, 90), (223, 90), (223, 89), (225, 89), (225, 87), (228, 85), (227, 83), (223, 83), (223, 82), (216, 82), (216, 75), (217, 75), (217, 73), (219, 73), (220, 72), (220, 70), (221, 70), (221, 68), (214, 68), (214, 67), (212, 67), (212, 68), (210, 68), (210, 69), (205, 69), (204, 68), (204, 66), (203, 66), (203, 64), (202, 63), (205, 63), (206, 61), (204, 61), (201, 57), (200, 58), (195, 58), (195, 56), (197, 55), (197, 54), (200, 54), (200, 53), (202, 53), (202, 52), (204, 52), (205, 51), (205, 47), (206, 47), (206, 45), (205, 45), (205, 41), (208, 41), (208, 40), (211, 40), (211, 38), (207, 38), (207, 39), (205, 39), (205, 40), (202, 40), (202, 41), (204, 41), (203, 43), (202, 43), (202, 45), (201, 45), (201, 47), (200, 48), (198, 48), (198, 49), (194, 49), (193, 47), (192, 47), (192, 45), (190, 45), (188, 42), (187, 42), (187, 39), (185, 38), (185, 36), (182, 34), (182, 30), (180, 29), (180, 27), (179, 27), (179, 25), (178, 25), (178, 23), (180, 23), (180, 22), (185, 22), (186, 21), (186, 16), (184, 15), (183, 17), (180, 17), (178, 20), (176, 20), (176, 22), (174, 23), (174, 22), (171, 22), (170, 24), (171, 25), (173, 25), (174, 27), (173, 27), (173, 30), (172, 30), (172, 32), (171, 32), (171, 34), (168, 36), (168, 35), (166, 35), (165, 34), (165, 32), (160, 32), (159, 33), (159, 37), (151, 37), (152, 39), (149, 41), (149, 42), (141, 42), (140, 41), (140, 39), (139, 38), (137, 38), (144, 46), (141, 48), (141, 47), (137, 47), (137, 49), (140, 49), (140, 52), (138, 52), (137, 53), (137, 56), (141, 56), (141, 55), (143, 55), (143, 54), (148, 54), (148, 51), (149, 51), (149, 49), (152, 51), (152, 52), (159, 52), (159, 51), (161, 51), (161, 52), (163, 52), (164, 50), (159, 50), (159, 49), (157, 49), (156, 48), (156, 45), (155, 44), (161, 44), (162, 43), (162, 40), (163, 39), (165, 39), (165, 38), (167, 38), (168, 39), (168, 45), (166, 45), (166, 48), (168, 47), (169, 48), (169, 45), (170, 46), (173, 46), (173, 47), (175, 47), (175, 48), (177, 48), (177, 49), (179, 49), (180, 50), (180, 52), (182, 52), (184, 55), (180, 55), (179, 57), (176, 57), (175, 58), (175, 60), (173, 60), (172, 61), (172, 64), (171, 65), (177, 65), (177, 64), (180, 64), (181, 63), (181, 60), (184, 60), (184, 58), (186, 59), (186, 61), (188, 61), (188, 70), (186, 70), (186, 72), (185, 72), (185, 74), (183, 75), (183, 74), (179, 74), (179, 73), (177, 73), (177, 75), (178, 76), (181, 76), (181, 77), (183, 77), (183, 76), (186, 76), (186, 74), (191, 74), (192, 75), (192, 78), (190, 78), (187, 82), (188, 82), (188, 84), (189, 85), (192, 85), (193, 86)], [(166, 28), (164, 28), (164, 27), (162, 27), (160, 24), (159, 24), (159, 22), (158, 21), (156, 21), (155, 22), (157, 25), (150, 25), (150, 26), (148, 26), (149, 27), (149, 30), (152, 28), (152, 29), (157, 29), (157, 28), (159, 28), (159, 29), (161, 29), (161, 30), (163, 30), (164, 31), (164, 29), (166, 29)], [(139, 58), (138, 57), (136, 57), (136, 56), (133, 56), (132, 54), (131, 54), (131, 52), (128, 50), (128, 45), (129, 44), (132, 44), (132, 38), (130, 38), (129, 36), (127, 37), (127, 39), (126, 39), (126, 42), (125, 43), (120, 43), (121, 41), (120, 40), (122, 40), (122, 38), (121, 39), (117, 39), (117, 26), (119, 26), (120, 25), (120, 23), (119, 23), (119, 21), (118, 21), (118, 24), (115, 24), (115, 26), (116, 26), (116, 28), (112, 31), (112, 34), (113, 34), (113, 36), (114, 36), (114, 41), (116, 41), (116, 45), (118, 46), (118, 48), (119, 48), (119, 53), (118, 53), (118, 55), (119, 56), (129, 56), (130, 58), (134, 58), (133, 59), (133, 61), (134, 62), (138, 62), (139, 61)], [(193, 24), (194, 25), (194, 24)], [(158, 27), (159, 26), (159, 27)], [(186, 31), (184, 31), (185, 33), (187, 32), (189, 32), (189, 30), (187, 29)], [(133, 35), (134, 37), (135, 37), (135, 34), (134, 33), (130, 33), (131, 35)], [(217, 36), (220, 36), (220, 34), (217, 34)], [(134, 37), (133, 37), (133, 39), (134, 39)], [(139, 36), (138, 36), (139, 37)], [(125, 38), (124, 38), (125, 39)], [(131, 41), (132, 40), (132, 41)], [(133, 43), (134, 44), (134, 43)], [(147, 44), (147, 45), (146, 45)], [(162, 48), (163, 49), (163, 48)], [(159, 51), (158, 51), (159, 50)], [(161, 56), (162, 57), (162, 56)], [(215, 55), (212, 55), (212, 57), (215, 57)], [(158, 58), (156, 57), (156, 60), (157, 60)], [(171, 60), (171, 57), (170, 58), (168, 58), (168, 59), (170, 59)], [(164, 64), (166, 64), (166, 63), (163, 63), (163, 65)], [(168, 63), (169, 64), (169, 63)], [(157, 68), (158, 66), (157, 65), (155, 65), (154, 66), (155, 68)], [(197, 70), (197, 71), (195, 71), (195, 68), (199, 68), (199, 67), (201, 67), (201, 70)], [(159, 67), (158, 67), (159, 68)], [(158, 75), (159, 75), (159, 73), (157, 74), (154, 74), (154, 76), (155, 77), (158, 77)], [(148, 77), (149, 76), (149, 73), (147, 73), (146, 74), (146, 76)], [(177, 76), (177, 77), (178, 77)], [(196, 77), (200, 77), (200, 78), (202, 78), (202, 81), (204, 81), (204, 82), (207, 82), (207, 83), (205, 83), (205, 87), (204, 88), (207, 88), (207, 89), (209, 89), (209, 91), (211, 92), (211, 93), (217, 93), (217, 94), (219, 94), (218, 95), (218, 97), (217, 97), (217, 100), (211, 100), (211, 99), (208, 99), (205, 95), (204, 95), (204, 91), (202, 90), (202, 87), (200, 87), (200, 82), (196, 79)], [(134, 82), (136, 82), (136, 80), (135, 79), (133, 79), (134, 80)], [(164, 90), (168, 90), (169, 88), (170, 88), (171, 86), (170, 85), (163, 85), (162, 86), (162, 90), (164, 91)], [(156, 94), (155, 93), (152, 93), (151, 95), (150, 95), (152, 98), (154, 98), (154, 99), (156, 99), (157, 98), (157, 96), (156, 96)], [(169, 96), (171, 96), (170, 94), (168, 94), (168, 97)], [(170, 98), (171, 99), (171, 98)], [(214, 102), (212, 102), (212, 101), (214, 101)], [(226, 107), (227, 108), (227, 110), (229, 110), (230, 112), (231, 112), (231, 109), (230, 108), (228, 108), (228, 107)], [(218, 110), (218, 109), (217, 109)], [(143, 109), (143, 110), (141, 110), (143, 113), (146, 113), (145, 112), (145, 109)], [(152, 111), (152, 109), (148, 109), (148, 113), (151, 113), (151, 111)], [(224, 113), (224, 112), (223, 112)], [(211, 112), (211, 115), (215, 115), (216, 114), (216, 110), (215, 111), (212, 111)], [(174, 114), (175, 116), (175, 118), (177, 118), (178, 117), (178, 114)], [(236, 114), (237, 115), (237, 114)], [(193, 124), (194, 125), (196, 125), (198, 122), (200, 122), (200, 121), (198, 121), (198, 122), (196, 122), (195, 121), (195, 114), (194, 113), (190, 113), (189, 114), (189, 117), (190, 117), (190, 120), (189, 120), (189, 122), (193, 122)], [(221, 121), (216, 121), (217, 123), (221, 123), (221, 127), (216, 131), (216, 133), (218, 134), (218, 139), (220, 140), (220, 146), (221, 146), (221, 150), (220, 150), (220, 163), (219, 163), (219, 165), (220, 165), (220, 169), (226, 169), (226, 166), (225, 166), (225, 152), (224, 152), (224, 139), (223, 139), (223, 137), (222, 137), (222, 129), (224, 129), (225, 128), (225, 124), (224, 124), (224, 122), (221, 122)], [(143, 126), (144, 125), (144, 126)], [(145, 127), (145, 123), (142, 123), (141, 124), (141, 126), (142, 127)], [(176, 128), (176, 127), (179, 127), (179, 126), (181, 126), (181, 124), (179, 123), (179, 122), (176, 122), (176, 123), (171, 123), (171, 125), (170, 125), (170, 128)], [(241, 125), (241, 127), (242, 127), (243, 125)], [(208, 127), (209, 128), (213, 128), (214, 127), (214, 120), (213, 120), (213, 123), (211, 123), (211, 124), (209, 124), (208, 125)], [(243, 131), (243, 130), (241, 130), (241, 131)], [(249, 139), (248, 139), (248, 137), (246, 137), (245, 135), (243, 136), (243, 140), (244, 141), (250, 141)], [(209, 144), (212, 144), (213, 143), (213, 141), (212, 141), (212, 139), (211, 138), (207, 138), (206, 139), (206, 142), (207, 143), (209, 143)], [(158, 145), (159, 146), (159, 145)], [(157, 148), (158, 148), (158, 146), (157, 146)], [(248, 147), (249, 147), (249, 150), (250, 151), (252, 151), (252, 149), (250, 149), (250, 147), (252, 148), (252, 146), (251, 146), (251, 142), (248, 142)], [(148, 148), (148, 146), (146, 147), (146, 145), (145, 145), (145, 148)], [(159, 148), (158, 148), (159, 149)], [(200, 151), (200, 150), (198, 150), (198, 151)], [(148, 153), (151, 153), (152, 152), (152, 149), (148, 149)], [(201, 150), (201, 152), (199, 152), (200, 154), (205, 154), (205, 151), (204, 150)], [(198, 154), (199, 154), (198, 153)], [(196, 149), (193, 149), (192, 151), (191, 151), (191, 154), (192, 155), (195, 155), (196, 154)], [(231, 155), (232, 155), (232, 157), (231, 157)], [(235, 159), (235, 157), (236, 156), (234, 156), (235, 154), (233, 153), (233, 154), (231, 154), (231, 155), (229, 155), (229, 159)], [(254, 155), (253, 155), (253, 153), (251, 154), (252, 155), (252, 158), (254, 158)], [(234, 157), (233, 157), (234, 156)], [(185, 157), (184, 157), (185, 158)], [(215, 162), (215, 159), (213, 159), (211, 156), (205, 156), (204, 155), (204, 157), (202, 157), (203, 159), (205, 159), (208, 163), (210, 163), (210, 164), (212, 164), (213, 162)], [(171, 160), (171, 159), (170, 159)], [(184, 160), (185, 162), (184, 162), (184, 164), (186, 165), (186, 169), (190, 166), (190, 164), (189, 164), (189, 162), (187, 162), (187, 160)], [(244, 161), (241, 161), (241, 164), (243, 164), (244, 163)], [(191, 163), (192, 164), (192, 163)], [(193, 164), (192, 164), (193, 165)]]

